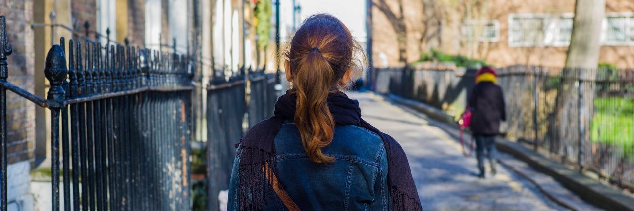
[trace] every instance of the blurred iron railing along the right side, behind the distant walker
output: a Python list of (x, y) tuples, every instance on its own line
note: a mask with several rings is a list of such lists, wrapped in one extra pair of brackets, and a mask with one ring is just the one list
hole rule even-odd
[[(476, 69), (377, 69), (374, 87), (458, 116), (475, 85)], [(498, 69), (508, 121), (502, 132), (551, 159), (597, 172), (634, 190), (632, 69)]]

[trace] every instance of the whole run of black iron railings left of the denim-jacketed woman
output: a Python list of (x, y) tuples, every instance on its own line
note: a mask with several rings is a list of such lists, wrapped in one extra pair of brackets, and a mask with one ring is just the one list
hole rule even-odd
[[(7, 208), (6, 90), (51, 111), (51, 210), (190, 210), (190, 141), (200, 115), (191, 109), (195, 59), (175, 48), (77, 37), (49, 50), (50, 88), (41, 99), (7, 81), (12, 50), (0, 17), (0, 210)], [(205, 87), (209, 210), (218, 209), (218, 193), (228, 188), (233, 145), (273, 115), (278, 97), (275, 73), (219, 73)]]

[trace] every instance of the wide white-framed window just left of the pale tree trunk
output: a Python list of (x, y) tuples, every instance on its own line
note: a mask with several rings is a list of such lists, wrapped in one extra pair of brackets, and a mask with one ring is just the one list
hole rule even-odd
[(571, 14), (513, 14), (509, 15), (508, 23), (510, 47), (565, 47), (570, 44), (573, 32)]

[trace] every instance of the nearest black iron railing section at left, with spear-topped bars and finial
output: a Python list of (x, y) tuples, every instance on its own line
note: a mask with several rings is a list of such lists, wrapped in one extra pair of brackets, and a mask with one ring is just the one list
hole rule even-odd
[(66, 45), (62, 38), (46, 56), (51, 88), (40, 99), (6, 80), (11, 47), (4, 16), (0, 32), (2, 210), (6, 90), (51, 111), (51, 210), (60, 210), (60, 198), (64, 210), (190, 208), (193, 75), (186, 56), (89, 39)]

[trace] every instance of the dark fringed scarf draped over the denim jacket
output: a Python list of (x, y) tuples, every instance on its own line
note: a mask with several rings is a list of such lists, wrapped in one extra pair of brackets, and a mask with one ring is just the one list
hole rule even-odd
[[(275, 194), (266, 175), (280, 174), (276, 168), (274, 138), (285, 119), (294, 119), (294, 94), (282, 95), (275, 104), (275, 116), (254, 125), (240, 141), (239, 199), (240, 210), (259, 210), (266, 199)], [(349, 99), (344, 93), (330, 94), (328, 107), (336, 125), (353, 124), (377, 133), (383, 140), (387, 152), (387, 180), (390, 187), (392, 210), (422, 210), (420, 199), (411, 177), (410, 164), (401, 145), (391, 136), (361, 119), (361, 109), (357, 100)], [(336, 161), (335, 161), (336, 162)], [(263, 165), (271, 168), (264, 173)], [(272, 171), (272, 172), (271, 172)], [(283, 174), (283, 172), (281, 172)], [(283, 183), (281, 181), (280, 183)], [(273, 184), (277, 185), (277, 184)], [(281, 187), (281, 186), (280, 186)]]

